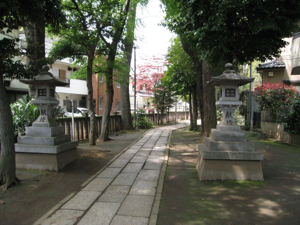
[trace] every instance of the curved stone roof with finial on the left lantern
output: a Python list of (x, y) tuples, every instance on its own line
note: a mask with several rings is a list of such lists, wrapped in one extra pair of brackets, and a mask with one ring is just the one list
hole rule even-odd
[(31, 85), (52, 85), (52, 86), (67, 86), (70, 82), (62, 81), (53, 76), (52, 73), (48, 72), (49, 66), (43, 66), (43, 72), (38, 73), (31, 79), (19, 79), (21, 83)]

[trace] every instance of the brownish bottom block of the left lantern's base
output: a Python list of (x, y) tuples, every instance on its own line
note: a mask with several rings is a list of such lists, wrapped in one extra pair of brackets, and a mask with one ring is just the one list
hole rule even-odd
[(59, 171), (78, 158), (77, 148), (58, 154), (16, 152), (16, 168)]

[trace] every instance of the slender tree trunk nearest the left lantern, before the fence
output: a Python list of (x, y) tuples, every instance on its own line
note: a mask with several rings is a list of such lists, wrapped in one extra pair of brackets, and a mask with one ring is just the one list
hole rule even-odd
[(94, 61), (95, 49), (90, 46), (87, 64), (87, 79), (86, 87), (88, 89), (88, 112), (90, 114), (90, 133), (89, 133), (89, 145), (96, 145), (96, 116), (93, 105), (93, 85), (92, 85), (92, 75), (93, 75), (93, 61)]

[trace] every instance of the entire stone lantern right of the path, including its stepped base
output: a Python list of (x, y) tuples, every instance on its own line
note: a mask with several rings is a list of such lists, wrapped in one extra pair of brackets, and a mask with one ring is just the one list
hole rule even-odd
[(227, 63), (222, 75), (212, 77), (208, 83), (220, 88), (220, 99), (216, 106), (223, 118), (211, 137), (205, 137), (198, 145), (196, 169), (200, 180), (258, 180), (263, 181), (261, 160), (263, 154), (254, 151), (252, 142), (247, 141), (246, 131), (241, 131), (234, 119), (234, 112), (242, 105), (238, 100), (238, 87), (254, 80), (240, 76)]

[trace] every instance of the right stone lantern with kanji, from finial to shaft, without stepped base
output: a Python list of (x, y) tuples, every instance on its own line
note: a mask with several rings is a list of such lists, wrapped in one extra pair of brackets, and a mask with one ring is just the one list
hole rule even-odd
[(223, 118), (217, 125), (219, 131), (240, 131), (241, 128), (235, 122), (233, 114), (237, 107), (243, 103), (238, 100), (238, 87), (248, 84), (254, 80), (246, 76), (241, 76), (233, 70), (233, 65), (227, 63), (226, 70), (220, 76), (212, 77), (208, 82), (211, 85), (220, 88), (220, 99), (216, 102), (216, 106), (222, 110)]

